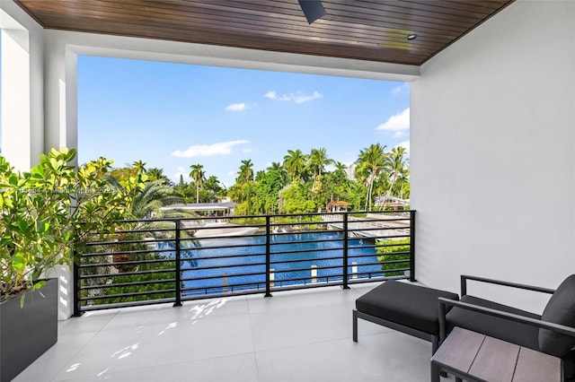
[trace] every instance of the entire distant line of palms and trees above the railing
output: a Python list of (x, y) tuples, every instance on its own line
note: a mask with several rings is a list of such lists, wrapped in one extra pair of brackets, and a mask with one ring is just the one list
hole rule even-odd
[(316, 213), (336, 201), (350, 203), (354, 211), (373, 211), (387, 208), (385, 201), (392, 196), (410, 197), (409, 159), (403, 147), (387, 151), (385, 145), (374, 143), (360, 150), (357, 160), (349, 165), (334, 161), (323, 147), (308, 154), (294, 149), (288, 150), (281, 161), (271, 161), (266, 169), (254, 167), (251, 159), (241, 161), (235, 183), (228, 188), (216, 176), (207, 174), (201, 163), (190, 165), (189, 183), (181, 175), (174, 184), (163, 169), (146, 169), (144, 161), (112, 169), (111, 175), (119, 180), (138, 174), (149, 178), (150, 184), (140, 196), (149, 209), (134, 211), (134, 216), (140, 217), (159, 216), (158, 208), (168, 203), (215, 203), (226, 199), (238, 204), (236, 215), (260, 215)]

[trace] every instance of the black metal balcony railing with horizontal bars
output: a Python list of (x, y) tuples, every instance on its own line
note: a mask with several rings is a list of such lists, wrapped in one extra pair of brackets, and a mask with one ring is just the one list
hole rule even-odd
[(84, 311), (373, 282), (415, 281), (415, 212), (118, 221), (74, 268)]

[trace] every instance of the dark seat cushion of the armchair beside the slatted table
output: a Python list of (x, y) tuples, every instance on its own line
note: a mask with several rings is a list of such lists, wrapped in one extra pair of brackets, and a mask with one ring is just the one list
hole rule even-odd
[[(465, 295), (461, 298), (463, 302), (473, 305), (479, 305), (483, 308), (492, 308), (504, 312), (513, 313), (519, 316), (540, 319), (541, 316), (534, 313), (526, 312), (517, 308), (511, 308), (507, 305), (498, 304), (490, 300), (483, 300), (477, 297)], [(520, 324), (509, 319), (493, 317), (483, 313), (473, 312), (463, 308), (452, 308), (446, 316), (447, 330), (450, 332), (455, 326), (460, 326), (473, 332), (490, 335), (499, 338), (502, 341), (516, 343), (517, 345), (526, 346), (529, 349), (539, 351), (537, 337), (539, 328)]]

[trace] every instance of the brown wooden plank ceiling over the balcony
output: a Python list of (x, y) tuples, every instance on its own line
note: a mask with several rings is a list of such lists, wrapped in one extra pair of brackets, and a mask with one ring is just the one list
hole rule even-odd
[[(421, 65), (514, 0), (14, 0), (46, 29)], [(416, 39), (407, 36), (416, 34)]]

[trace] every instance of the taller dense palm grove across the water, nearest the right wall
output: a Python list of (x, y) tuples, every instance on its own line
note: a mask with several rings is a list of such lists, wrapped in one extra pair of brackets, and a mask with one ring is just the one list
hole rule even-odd
[[(353, 178), (349, 172), (353, 169)], [(227, 196), (238, 203), (237, 214), (315, 213), (330, 202), (346, 201), (352, 209), (371, 211), (385, 208), (376, 205), (376, 197), (409, 198), (409, 167), (403, 147), (385, 151), (372, 144), (358, 154), (350, 169), (333, 161), (324, 148), (288, 150), (283, 161), (271, 162), (267, 169), (253, 176), (253, 164), (242, 161), (234, 186)]]

